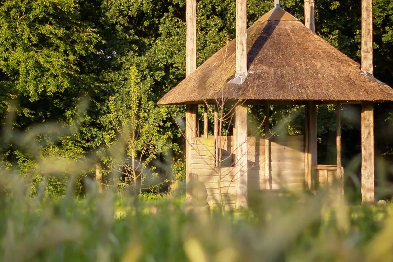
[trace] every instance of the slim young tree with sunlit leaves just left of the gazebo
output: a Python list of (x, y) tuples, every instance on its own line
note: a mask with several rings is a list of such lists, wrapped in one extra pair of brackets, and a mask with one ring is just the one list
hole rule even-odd
[[(149, 87), (141, 85), (135, 66), (131, 66), (129, 75), (125, 76), (125, 86), (109, 97), (110, 113), (105, 116), (113, 127), (105, 134), (106, 144), (118, 148), (124, 142), (125, 155), (121, 165), (114, 166), (139, 192), (147, 177), (147, 169), (156, 175), (154, 166), (157, 153), (165, 152), (171, 133), (165, 130), (164, 120), (169, 116), (167, 107), (157, 107), (149, 101)], [(116, 163), (115, 163), (116, 165)], [(149, 186), (149, 185), (147, 185)]]

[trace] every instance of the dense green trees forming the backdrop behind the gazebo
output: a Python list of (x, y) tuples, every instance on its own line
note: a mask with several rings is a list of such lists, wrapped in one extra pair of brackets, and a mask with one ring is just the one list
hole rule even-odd
[[(393, 85), (393, 2), (373, 2), (375, 75)], [(272, 6), (272, 0), (249, 0), (248, 25)], [(303, 0), (282, 0), (281, 6), (303, 20)], [(360, 1), (316, 0), (315, 6), (316, 33), (359, 61)], [(235, 1), (197, 1), (198, 65), (234, 35)], [(182, 177), (176, 119), (184, 107), (158, 108), (155, 102), (184, 75), (184, 0), (1, 0), (0, 113), (5, 117), (1, 159), (21, 174), (49, 156), (95, 159), (110, 172), (120, 165), (108, 152), (116, 148), (126, 120), (134, 116), (130, 102), (136, 100), (130, 99), (138, 97), (136, 103), (143, 110), (154, 112), (153, 117), (146, 111), (135, 113), (136, 119), (154, 124), (136, 139), (152, 143), (143, 159), (150, 163), (162, 152), (159, 160), (172, 157), (176, 175)], [(138, 88), (132, 89), (135, 76)], [(137, 94), (132, 97), (133, 92)], [(6, 123), (13, 105), (11, 136)], [(298, 109), (272, 107), (270, 123)], [(377, 148), (387, 160), (393, 153), (392, 109), (389, 103), (375, 109)], [(251, 110), (257, 120), (263, 119), (262, 110)], [(360, 143), (353, 145), (360, 141), (358, 111), (356, 106), (343, 110), (344, 164), (360, 152)], [(334, 114), (334, 107), (318, 109), (318, 158), (326, 164), (334, 164), (335, 159)], [(290, 121), (288, 132), (301, 133), (302, 121), (301, 117)], [(36, 130), (37, 124), (47, 128)], [(29, 140), (17, 135), (26, 130), (35, 132)], [(165, 155), (167, 148), (175, 154)], [(133, 159), (135, 152), (129, 149), (121, 153)], [(141, 147), (135, 150), (140, 153)]]

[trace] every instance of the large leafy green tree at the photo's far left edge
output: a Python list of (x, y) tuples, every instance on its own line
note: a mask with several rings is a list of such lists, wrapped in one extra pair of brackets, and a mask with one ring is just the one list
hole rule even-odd
[[(75, 117), (88, 94), (85, 60), (100, 41), (83, 11), (73, 0), (0, 2), (0, 112), (17, 105), (12, 132), (2, 128), (10, 138), (2, 159), (22, 174), (48, 155), (83, 157), (86, 140), (74, 128), (83, 120)], [(34, 127), (40, 123), (48, 127)]]

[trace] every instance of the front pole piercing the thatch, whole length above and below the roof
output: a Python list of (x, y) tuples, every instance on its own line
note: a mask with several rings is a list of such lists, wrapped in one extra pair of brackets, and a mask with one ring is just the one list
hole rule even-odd
[[(235, 83), (243, 83), (247, 76), (247, 0), (236, 0), (236, 74)], [(247, 106), (238, 105), (235, 111), (236, 207), (247, 207)]]

